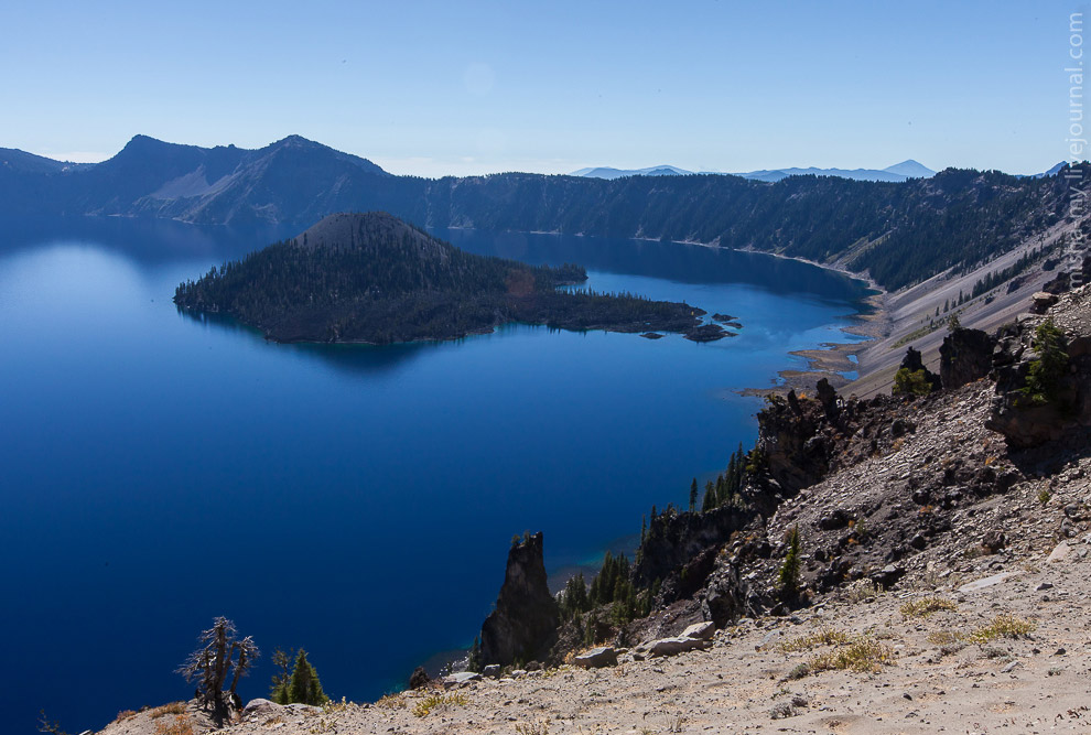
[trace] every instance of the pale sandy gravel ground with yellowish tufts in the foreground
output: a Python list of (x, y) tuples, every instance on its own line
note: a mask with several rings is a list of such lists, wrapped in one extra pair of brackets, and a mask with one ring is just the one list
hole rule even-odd
[[(935, 591), (928, 585), (831, 601), (791, 617), (747, 618), (719, 631), (711, 648), (677, 657), (631, 661), (623, 655), (606, 669), (562, 667), (322, 711), (256, 707), (226, 732), (1084, 732), (1091, 720), (1087, 551), (1080, 544), (1060, 562), (1036, 551), (1014, 576), (979, 588), (960, 591), (944, 580)], [(991, 572), (975, 569), (968, 576), (995, 576)], [(903, 615), (906, 605), (933, 595), (953, 609)], [(1000, 614), (1037, 627), (983, 644), (937, 642), (948, 634), (971, 635)], [(834, 649), (809, 638), (845, 630), (873, 637), (885, 660), (871, 671), (789, 679), (800, 663)]]

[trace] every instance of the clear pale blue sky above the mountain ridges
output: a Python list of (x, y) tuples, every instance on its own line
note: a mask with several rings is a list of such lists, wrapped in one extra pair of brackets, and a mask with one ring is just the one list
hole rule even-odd
[(1030, 173), (1067, 156), (1079, 9), (6, 2), (0, 147), (101, 160), (136, 133), (246, 148), (299, 133), (423, 175), (907, 158)]

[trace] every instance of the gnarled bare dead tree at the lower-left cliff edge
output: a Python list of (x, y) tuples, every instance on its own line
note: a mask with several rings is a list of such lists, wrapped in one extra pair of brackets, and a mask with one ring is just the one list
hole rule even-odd
[[(197, 682), (197, 699), (206, 706), (218, 715), (226, 714), (238, 707), (235, 689), (258, 658), (258, 647), (250, 636), (239, 639), (235, 624), (226, 617), (215, 618), (213, 627), (202, 630), (197, 640), (201, 648), (190, 653), (177, 672), (186, 681)], [(233, 673), (231, 684), (225, 691), (228, 671)]]

